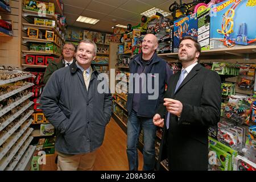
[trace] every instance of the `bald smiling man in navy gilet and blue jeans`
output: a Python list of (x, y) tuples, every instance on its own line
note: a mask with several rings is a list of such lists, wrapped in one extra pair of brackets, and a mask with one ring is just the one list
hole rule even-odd
[[(168, 78), (172, 75), (170, 66), (156, 54), (157, 48), (158, 40), (156, 36), (147, 34), (143, 38), (142, 53), (134, 56), (133, 60), (130, 61), (131, 74), (127, 98), (129, 117), (127, 122), (126, 149), (130, 170), (138, 170), (137, 146), (141, 130), (143, 130), (144, 143), (143, 170), (150, 171), (155, 167), (156, 127), (152, 122), (152, 117), (155, 114), (159, 101), (163, 99)], [(131, 78), (131, 75), (134, 77)], [(150, 99), (152, 93), (149, 90), (143, 92), (144, 88), (147, 88), (148, 80), (150, 79), (152, 80), (151, 83), (158, 83), (154, 85), (155, 92), (159, 94), (155, 99)], [(133, 88), (131, 92), (130, 88)]]

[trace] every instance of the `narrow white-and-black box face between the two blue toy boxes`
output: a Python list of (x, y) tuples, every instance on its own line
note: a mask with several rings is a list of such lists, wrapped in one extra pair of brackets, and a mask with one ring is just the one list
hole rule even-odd
[(210, 49), (210, 8), (197, 13), (198, 37), (202, 51)]

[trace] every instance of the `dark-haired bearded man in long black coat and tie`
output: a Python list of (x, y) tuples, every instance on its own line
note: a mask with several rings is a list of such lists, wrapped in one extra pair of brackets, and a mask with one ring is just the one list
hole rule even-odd
[(208, 127), (220, 120), (220, 76), (198, 63), (200, 52), (195, 39), (180, 40), (178, 59), (185, 78), (178, 85), (181, 72), (170, 77), (164, 104), (153, 118), (156, 126), (164, 127), (162, 146), (167, 145), (172, 171), (207, 170)]

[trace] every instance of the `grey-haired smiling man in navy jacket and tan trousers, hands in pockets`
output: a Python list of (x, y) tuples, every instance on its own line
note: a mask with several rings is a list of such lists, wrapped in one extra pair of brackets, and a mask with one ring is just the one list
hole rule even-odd
[(76, 61), (55, 71), (41, 96), (44, 115), (56, 129), (58, 170), (92, 170), (111, 117), (112, 95), (97, 91), (100, 72), (91, 67), (97, 46), (79, 43)]

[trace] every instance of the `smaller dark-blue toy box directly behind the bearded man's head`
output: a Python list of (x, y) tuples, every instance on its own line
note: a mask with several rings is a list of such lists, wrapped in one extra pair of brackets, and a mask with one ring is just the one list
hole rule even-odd
[(192, 36), (197, 40), (197, 18), (191, 14), (174, 22), (174, 52), (179, 51), (179, 41), (184, 36)]

